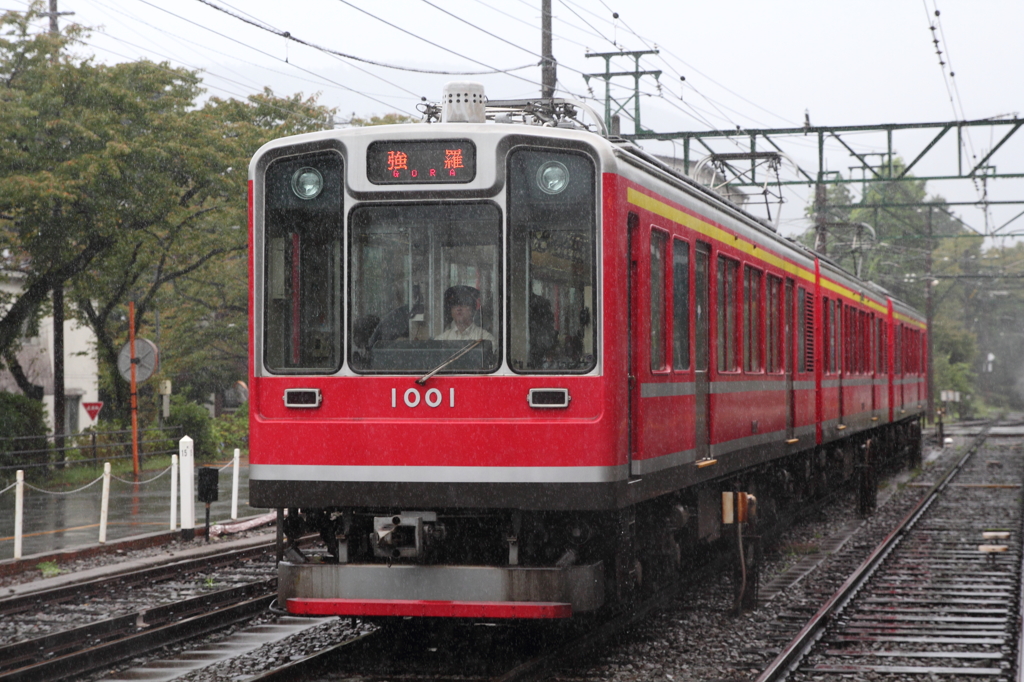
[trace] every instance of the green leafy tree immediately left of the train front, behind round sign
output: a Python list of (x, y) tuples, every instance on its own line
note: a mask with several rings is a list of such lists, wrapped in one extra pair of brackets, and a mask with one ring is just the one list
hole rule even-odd
[(181, 153), (197, 158), (187, 182), (166, 188), (173, 201), (162, 220), (125, 236), (77, 280), (78, 309), (96, 334), (113, 414), (128, 408), (116, 367), (129, 298), (136, 334), (162, 315), (162, 376), (191, 385), (197, 399), (246, 377), (248, 162), (267, 140), (322, 129), (332, 117), (314, 97), (269, 90), (244, 102), (213, 98), (178, 117), (187, 135)]

